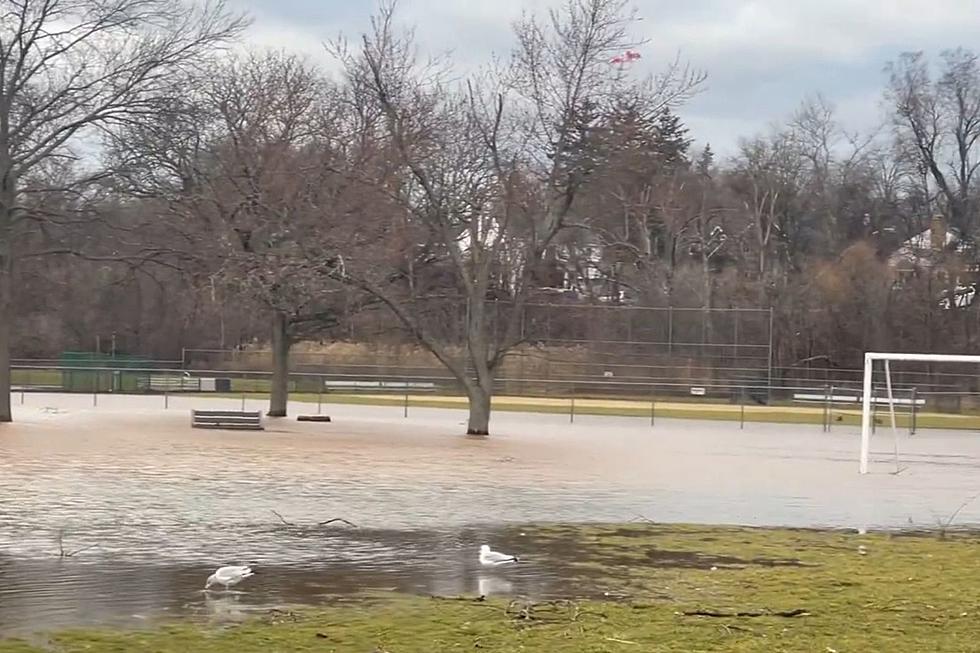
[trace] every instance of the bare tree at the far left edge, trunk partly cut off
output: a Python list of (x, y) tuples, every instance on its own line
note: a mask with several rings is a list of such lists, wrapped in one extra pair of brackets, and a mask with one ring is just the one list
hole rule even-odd
[(100, 130), (140, 120), (173, 75), (202, 64), (245, 22), (220, 0), (3, 0), (0, 11), (0, 422), (8, 422), (16, 242), (44, 219), (27, 209), (27, 180), (82, 156)]

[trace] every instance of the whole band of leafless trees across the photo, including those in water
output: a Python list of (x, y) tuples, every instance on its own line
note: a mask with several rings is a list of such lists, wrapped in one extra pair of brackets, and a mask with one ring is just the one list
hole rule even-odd
[(267, 341), (285, 415), (290, 347), (368, 315), (484, 434), (524, 307), (556, 292), (772, 307), (786, 366), (978, 350), (969, 50), (899, 55), (874, 132), (815, 96), (718, 161), (682, 119), (705, 75), (640, 74), (626, 0), (528, 16), (475, 71), (421, 56), (382, 3), (325, 43), (332, 73), (232, 53), (246, 21), (220, 2), (0, 5), (0, 421), (11, 352), (110, 333), (164, 358)]

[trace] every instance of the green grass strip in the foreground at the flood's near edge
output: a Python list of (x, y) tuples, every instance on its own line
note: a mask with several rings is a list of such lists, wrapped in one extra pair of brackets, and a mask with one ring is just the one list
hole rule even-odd
[[(580, 579), (577, 597), (536, 604), (364, 597), (273, 611), (240, 625), (173, 621), (148, 630), (56, 632), (42, 644), (0, 641), (0, 653), (980, 649), (974, 580), (980, 545), (966, 535), (637, 524), (549, 526), (528, 534), (576, 556), (563, 571)], [(593, 598), (581, 598), (587, 595)], [(718, 616), (689, 614), (695, 611)]]

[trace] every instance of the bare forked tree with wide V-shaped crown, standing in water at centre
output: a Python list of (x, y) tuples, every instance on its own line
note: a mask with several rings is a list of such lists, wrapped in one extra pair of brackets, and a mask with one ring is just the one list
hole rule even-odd
[[(452, 270), (466, 309), (462, 357), (411, 308), (420, 299), (411, 280), (399, 297), (385, 285), (391, 275), (349, 265), (344, 276), (380, 297), (465, 389), (470, 434), (489, 432), (497, 369), (523, 339), (535, 273), (585, 182), (588, 108), (623, 92), (609, 61), (635, 45), (625, 8), (622, 0), (569, 0), (544, 22), (527, 18), (516, 26), (510, 66), (460, 85), (439, 62), (419, 63), (411, 35), (395, 32), (393, 4), (383, 5), (358, 53), (335, 44), (403, 166), (398, 197), (422, 253), (409, 257), (411, 267)], [(666, 105), (699, 81), (674, 66), (644, 83)]]

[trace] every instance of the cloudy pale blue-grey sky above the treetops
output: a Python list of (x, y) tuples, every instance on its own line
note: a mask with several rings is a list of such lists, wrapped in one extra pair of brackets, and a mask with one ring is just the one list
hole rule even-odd
[[(523, 10), (561, 0), (400, 0), (423, 48), (466, 64), (507, 54)], [(256, 45), (321, 57), (338, 32), (368, 26), (372, 0), (235, 0), (255, 24)], [(708, 75), (680, 111), (692, 135), (730, 154), (738, 139), (822, 93), (853, 129), (879, 121), (885, 64), (905, 50), (980, 49), (980, 0), (636, 0), (637, 35), (650, 39), (641, 65), (654, 70), (678, 51)]]

